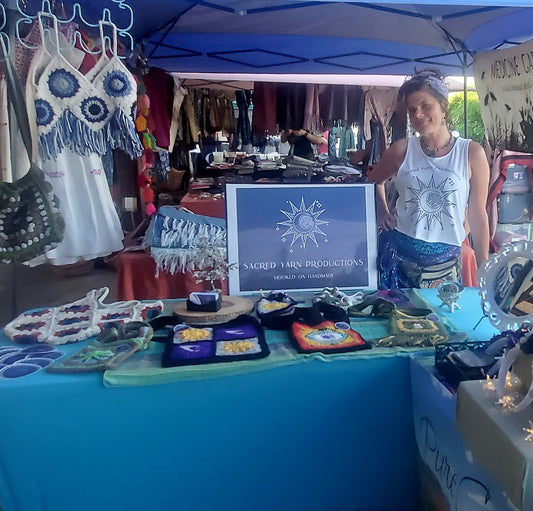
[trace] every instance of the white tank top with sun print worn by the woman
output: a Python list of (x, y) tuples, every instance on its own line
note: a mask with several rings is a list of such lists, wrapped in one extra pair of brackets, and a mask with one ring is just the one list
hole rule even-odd
[(411, 137), (396, 175), (396, 229), (423, 241), (461, 246), (470, 192), (469, 140), (458, 137), (445, 156), (430, 158)]

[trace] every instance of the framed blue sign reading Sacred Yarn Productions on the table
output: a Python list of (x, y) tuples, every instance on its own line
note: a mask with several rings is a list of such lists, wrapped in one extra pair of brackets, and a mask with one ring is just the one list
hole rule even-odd
[(374, 184), (227, 184), (232, 295), (377, 289)]

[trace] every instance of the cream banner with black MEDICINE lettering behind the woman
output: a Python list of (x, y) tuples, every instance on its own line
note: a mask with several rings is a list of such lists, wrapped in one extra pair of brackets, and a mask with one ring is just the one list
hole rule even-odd
[(474, 76), (490, 146), (533, 152), (533, 40), (477, 54)]

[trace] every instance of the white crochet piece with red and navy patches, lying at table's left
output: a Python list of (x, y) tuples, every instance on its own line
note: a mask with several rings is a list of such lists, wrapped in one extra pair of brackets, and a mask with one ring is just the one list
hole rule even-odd
[(92, 289), (74, 302), (31, 312), (23, 312), (4, 328), (14, 342), (67, 344), (83, 341), (101, 332), (108, 323), (120, 325), (128, 321), (144, 321), (163, 310), (163, 302), (102, 301), (109, 293), (107, 287)]

